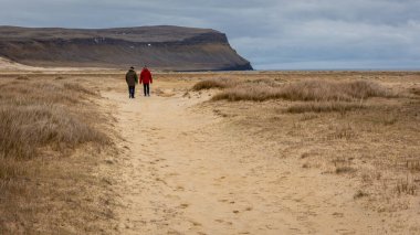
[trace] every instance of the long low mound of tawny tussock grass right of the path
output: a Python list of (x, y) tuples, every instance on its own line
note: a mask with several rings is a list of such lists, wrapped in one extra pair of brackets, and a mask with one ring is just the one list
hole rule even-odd
[(303, 102), (354, 102), (369, 97), (395, 97), (385, 87), (374, 82), (303, 81), (283, 86), (267, 84), (241, 84), (213, 96), (212, 100), (229, 102), (286, 99)]

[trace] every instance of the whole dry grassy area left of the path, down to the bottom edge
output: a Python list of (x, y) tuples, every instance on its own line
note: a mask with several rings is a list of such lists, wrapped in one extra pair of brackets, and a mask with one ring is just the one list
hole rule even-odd
[[(97, 211), (92, 204), (96, 199), (78, 199), (99, 191), (96, 183), (88, 192), (81, 188), (95, 181), (87, 177), (95, 160), (57, 158), (112, 143), (98, 130), (101, 116), (87, 102), (95, 95), (73, 83), (0, 83), (0, 234), (86, 232), (96, 226), (86, 221), (108, 217), (106, 206)], [(73, 228), (57, 228), (60, 224)]]

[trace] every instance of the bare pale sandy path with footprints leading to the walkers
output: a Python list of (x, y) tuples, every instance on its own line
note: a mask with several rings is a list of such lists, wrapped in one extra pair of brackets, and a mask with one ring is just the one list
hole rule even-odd
[(197, 111), (198, 99), (104, 96), (127, 140), (120, 234), (381, 233), (350, 185)]

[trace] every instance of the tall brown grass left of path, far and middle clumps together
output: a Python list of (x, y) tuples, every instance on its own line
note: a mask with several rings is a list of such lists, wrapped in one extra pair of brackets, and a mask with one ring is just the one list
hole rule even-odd
[(0, 158), (29, 159), (44, 147), (63, 152), (108, 141), (86, 122), (82, 109), (66, 106), (93, 94), (80, 85), (12, 83), (1, 86), (0, 94)]

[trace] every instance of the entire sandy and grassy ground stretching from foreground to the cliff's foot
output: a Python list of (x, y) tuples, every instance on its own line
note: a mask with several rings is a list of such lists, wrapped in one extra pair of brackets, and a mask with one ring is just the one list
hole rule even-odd
[(0, 72), (1, 234), (419, 234), (420, 73)]

